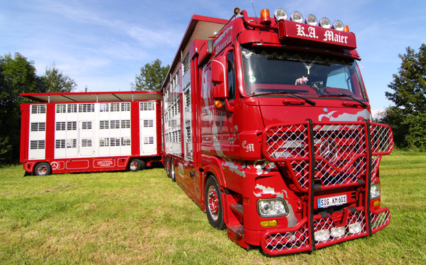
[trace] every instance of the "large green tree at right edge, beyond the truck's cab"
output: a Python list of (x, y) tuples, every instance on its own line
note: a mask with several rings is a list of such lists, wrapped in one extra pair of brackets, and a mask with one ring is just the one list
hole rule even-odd
[(388, 85), (393, 92), (386, 92), (394, 105), (381, 121), (392, 127), (396, 146), (426, 151), (426, 45), (406, 51), (399, 54), (401, 67)]

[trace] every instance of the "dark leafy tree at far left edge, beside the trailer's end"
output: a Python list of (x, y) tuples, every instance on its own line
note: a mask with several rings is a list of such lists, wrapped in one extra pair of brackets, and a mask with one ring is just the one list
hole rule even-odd
[(33, 61), (16, 52), (0, 56), (0, 162), (17, 162), (21, 127), (20, 93), (38, 92), (41, 78)]

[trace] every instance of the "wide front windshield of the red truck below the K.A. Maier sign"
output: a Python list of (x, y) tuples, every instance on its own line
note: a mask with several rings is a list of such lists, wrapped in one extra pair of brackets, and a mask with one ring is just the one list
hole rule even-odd
[(284, 91), (304, 97), (347, 95), (366, 100), (353, 59), (267, 47), (243, 47), (242, 58), (249, 96)]

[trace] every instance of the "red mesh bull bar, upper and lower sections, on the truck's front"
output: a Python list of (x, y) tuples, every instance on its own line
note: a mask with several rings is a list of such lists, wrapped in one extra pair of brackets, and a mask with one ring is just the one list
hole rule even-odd
[[(371, 236), (390, 222), (386, 207), (370, 210), (370, 184), (377, 176), (381, 156), (392, 152), (392, 130), (369, 120), (345, 123), (313, 123), (267, 127), (262, 134), (262, 154), (287, 170), (295, 187), (308, 195), (308, 216), (289, 229), (269, 230), (260, 246), (269, 255), (314, 251), (358, 237)], [(347, 207), (339, 224), (330, 216), (314, 215), (317, 189), (361, 185), (366, 196), (361, 206)], [(357, 224), (359, 231), (348, 229)], [(345, 226), (342, 234), (320, 242), (315, 232)], [(283, 231), (285, 230), (285, 231)]]

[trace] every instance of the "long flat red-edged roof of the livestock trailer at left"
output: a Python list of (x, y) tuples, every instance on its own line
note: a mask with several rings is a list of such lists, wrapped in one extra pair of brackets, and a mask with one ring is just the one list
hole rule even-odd
[(69, 93), (24, 93), (24, 98), (30, 98), (42, 103), (57, 102), (89, 102), (89, 101), (132, 101), (132, 100), (161, 100), (163, 93), (157, 91), (126, 91), (126, 92), (69, 92)]

